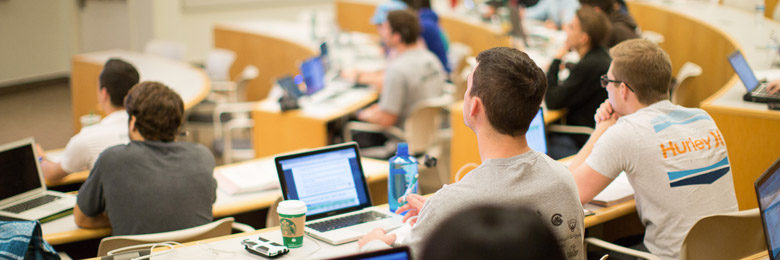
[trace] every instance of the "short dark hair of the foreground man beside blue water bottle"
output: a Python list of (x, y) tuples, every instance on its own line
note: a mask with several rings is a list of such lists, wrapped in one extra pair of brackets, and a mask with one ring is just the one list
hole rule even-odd
[(527, 54), (496, 47), (477, 56), (469, 95), (482, 99), (493, 128), (519, 136), (528, 131), (547, 91), (547, 77)]

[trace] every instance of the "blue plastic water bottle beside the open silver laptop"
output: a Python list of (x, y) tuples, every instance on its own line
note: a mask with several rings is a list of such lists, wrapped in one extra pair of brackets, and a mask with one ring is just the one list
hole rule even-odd
[[(390, 158), (390, 175), (387, 176), (387, 204), (390, 212), (395, 212), (398, 207), (406, 203), (399, 203), (398, 198), (404, 196), (412, 179), (417, 175), (417, 159), (409, 156), (409, 144), (398, 143), (395, 156)], [(417, 193), (417, 187), (411, 190)]]

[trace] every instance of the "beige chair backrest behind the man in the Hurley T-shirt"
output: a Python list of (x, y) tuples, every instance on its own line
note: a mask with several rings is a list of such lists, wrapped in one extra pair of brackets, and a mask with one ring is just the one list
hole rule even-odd
[(680, 259), (741, 259), (766, 250), (758, 209), (706, 216), (683, 240)]

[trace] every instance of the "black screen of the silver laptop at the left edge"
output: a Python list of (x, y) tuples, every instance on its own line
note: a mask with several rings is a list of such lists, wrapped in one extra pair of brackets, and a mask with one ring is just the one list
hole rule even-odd
[(0, 152), (0, 200), (43, 186), (30, 144)]

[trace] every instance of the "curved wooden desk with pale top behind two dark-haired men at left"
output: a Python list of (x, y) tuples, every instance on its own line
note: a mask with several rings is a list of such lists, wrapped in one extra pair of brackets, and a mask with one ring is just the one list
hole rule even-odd
[(206, 73), (184, 62), (125, 50), (77, 54), (72, 58), (70, 77), (74, 133), (81, 130), (79, 118), (82, 115), (101, 113), (105, 116), (97, 104), (98, 82), (103, 64), (114, 57), (133, 64), (141, 81), (159, 81), (179, 93), (184, 101), (184, 109), (200, 103), (211, 89)]

